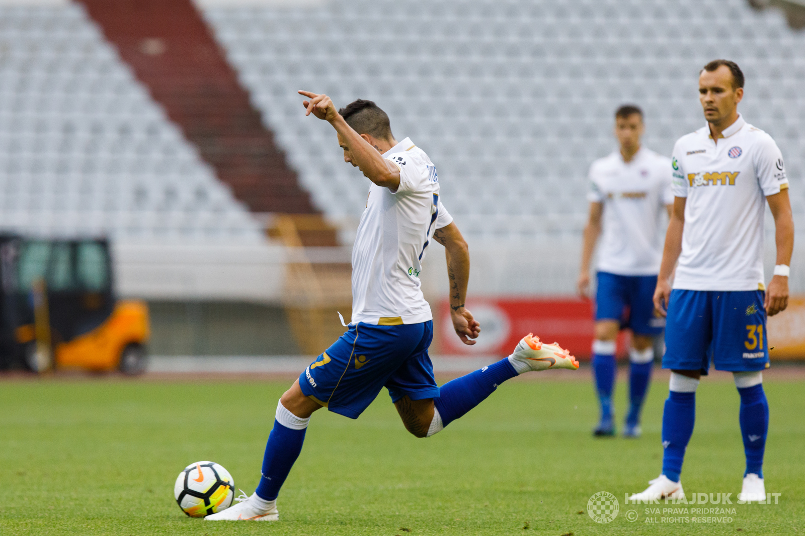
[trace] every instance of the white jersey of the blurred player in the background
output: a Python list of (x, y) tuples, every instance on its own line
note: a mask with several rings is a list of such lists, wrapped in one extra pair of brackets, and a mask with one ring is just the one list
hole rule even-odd
[(588, 201), (602, 203), (597, 269), (620, 276), (656, 276), (663, 259), (665, 206), (671, 194), (671, 159), (640, 149), (630, 162), (620, 151), (590, 166)]

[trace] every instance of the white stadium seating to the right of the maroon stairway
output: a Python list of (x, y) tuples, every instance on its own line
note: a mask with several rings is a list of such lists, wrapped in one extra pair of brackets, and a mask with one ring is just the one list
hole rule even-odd
[(270, 3), (204, 13), (328, 215), (359, 216), (367, 185), (332, 129), (303, 116), (297, 89), (377, 101), (398, 139), (436, 163), (470, 239), (575, 243), (588, 166), (614, 147), (615, 108), (642, 106), (646, 145), (670, 154), (704, 125), (698, 70), (728, 57), (748, 80), (741, 110), (778, 141), (805, 223), (805, 32), (778, 12), (745, 0)]

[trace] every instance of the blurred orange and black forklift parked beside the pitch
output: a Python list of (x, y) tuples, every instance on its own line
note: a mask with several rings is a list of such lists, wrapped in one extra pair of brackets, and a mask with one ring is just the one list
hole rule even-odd
[(145, 370), (148, 308), (114, 296), (105, 239), (0, 237), (0, 279), (2, 368)]

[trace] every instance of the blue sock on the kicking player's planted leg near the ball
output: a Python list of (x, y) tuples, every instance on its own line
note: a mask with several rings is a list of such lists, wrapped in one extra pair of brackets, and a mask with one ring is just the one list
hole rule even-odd
[(277, 498), (299, 452), (302, 452), (304, 434), (307, 431), (308, 428), (286, 428), (275, 419), (274, 429), (268, 436), (266, 453), (262, 458), (262, 477), (254, 492), (258, 497), (265, 501), (274, 501)]

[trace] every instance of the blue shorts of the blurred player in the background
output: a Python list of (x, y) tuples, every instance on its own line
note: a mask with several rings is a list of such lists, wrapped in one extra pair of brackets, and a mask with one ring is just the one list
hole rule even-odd
[(665, 319), (654, 314), (657, 276), (598, 272), (596, 320), (614, 320), (638, 335), (663, 333)]

